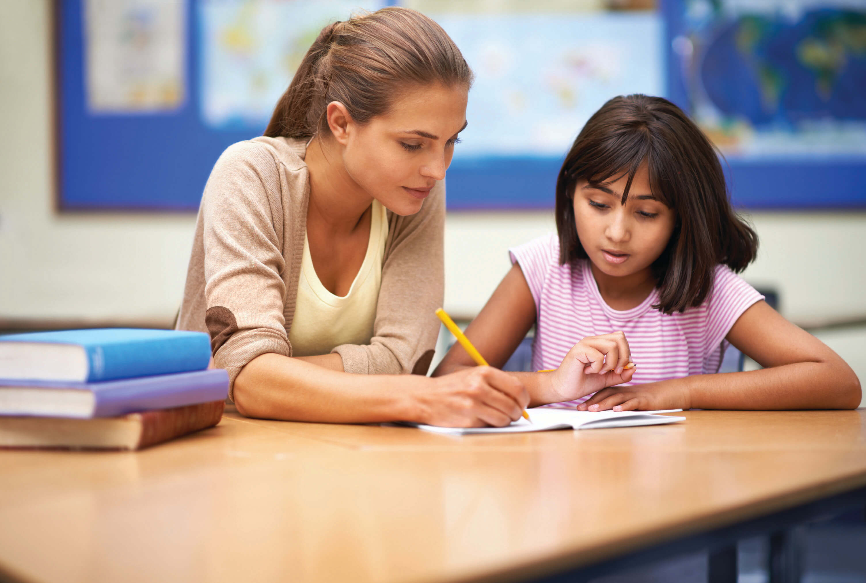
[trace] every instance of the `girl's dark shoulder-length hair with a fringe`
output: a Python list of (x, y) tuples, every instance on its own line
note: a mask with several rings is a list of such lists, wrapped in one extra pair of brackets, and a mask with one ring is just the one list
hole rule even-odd
[(556, 183), (559, 263), (586, 259), (574, 223), (577, 183), (631, 182), (646, 163), (652, 194), (675, 211), (675, 227), (652, 272), (653, 307), (670, 314), (698, 306), (713, 289), (718, 264), (741, 272), (755, 259), (758, 235), (734, 212), (719, 157), (708, 138), (667, 99), (615, 97), (590, 118), (565, 157)]

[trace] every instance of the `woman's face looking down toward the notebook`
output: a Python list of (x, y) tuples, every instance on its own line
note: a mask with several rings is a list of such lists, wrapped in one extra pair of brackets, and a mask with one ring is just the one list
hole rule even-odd
[(414, 215), (466, 127), (466, 86), (418, 86), (365, 125), (350, 123), (343, 163), (352, 180), (397, 215)]

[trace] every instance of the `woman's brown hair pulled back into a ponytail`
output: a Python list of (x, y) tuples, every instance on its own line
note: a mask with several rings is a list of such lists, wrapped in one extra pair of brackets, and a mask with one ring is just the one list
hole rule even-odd
[(365, 124), (391, 107), (407, 84), (472, 84), (460, 49), (436, 22), (408, 8), (387, 7), (328, 24), (307, 51), (264, 135), (312, 138), (327, 128), (339, 101)]

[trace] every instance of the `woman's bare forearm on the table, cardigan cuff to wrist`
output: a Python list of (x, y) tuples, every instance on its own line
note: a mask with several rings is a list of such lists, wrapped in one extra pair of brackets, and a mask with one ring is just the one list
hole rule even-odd
[[(312, 358), (327, 358), (326, 355)], [(310, 359), (264, 354), (237, 375), (234, 398), (248, 417), (376, 423), (412, 420), (411, 389), (425, 377), (417, 375), (351, 375), (309, 362)], [(342, 364), (340, 364), (342, 368)]]

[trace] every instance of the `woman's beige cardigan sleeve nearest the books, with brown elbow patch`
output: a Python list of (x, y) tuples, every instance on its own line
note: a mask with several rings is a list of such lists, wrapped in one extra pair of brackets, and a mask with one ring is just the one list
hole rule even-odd
[(214, 364), (236, 376), (256, 356), (292, 355), (283, 316), (281, 182), (267, 148), (229, 147), (204, 188), (204, 321)]

